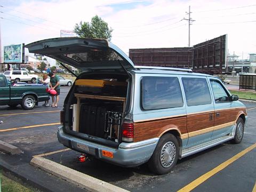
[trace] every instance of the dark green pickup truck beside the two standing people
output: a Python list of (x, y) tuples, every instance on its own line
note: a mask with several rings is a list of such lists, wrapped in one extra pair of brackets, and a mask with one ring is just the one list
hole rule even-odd
[(12, 84), (0, 75), (0, 105), (33, 109), (38, 102), (49, 100), (47, 86), (42, 84)]

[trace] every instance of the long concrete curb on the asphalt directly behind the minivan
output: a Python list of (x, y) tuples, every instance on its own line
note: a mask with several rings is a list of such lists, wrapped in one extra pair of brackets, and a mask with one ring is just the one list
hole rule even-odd
[(128, 192), (125, 189), (111, 185), (105, 181), (93, 178), (90, 175), (75, 171), (69, 167), (55, 163), (44, 157), (33, 157), (30, 164), (40, 169), (55, 175), (61, 179), (75, 183), (89, 191), (104, 191), (104, 192)]

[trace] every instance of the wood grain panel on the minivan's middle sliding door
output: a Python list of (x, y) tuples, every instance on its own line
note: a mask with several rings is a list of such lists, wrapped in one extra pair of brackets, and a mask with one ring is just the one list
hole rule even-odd
[[(212, 120), (210, 121), (210, 115)], [(203, 130), (214, 126), (214, 112), (207, 112), (203, 114), (193, 114), (187, 116), (187, 130), (188, 132)]]

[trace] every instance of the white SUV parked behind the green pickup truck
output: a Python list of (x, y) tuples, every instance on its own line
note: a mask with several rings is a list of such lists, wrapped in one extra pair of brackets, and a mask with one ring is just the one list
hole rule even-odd
[(4, 72), (5, 77), (10, 81), (15, 82), (32, 82), (36, 83), (38, 75), (29, 74), (25, 70), (6, 70)]

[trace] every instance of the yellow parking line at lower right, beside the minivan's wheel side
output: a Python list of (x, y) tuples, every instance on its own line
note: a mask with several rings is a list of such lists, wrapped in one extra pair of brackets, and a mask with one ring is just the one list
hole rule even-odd
[[(241, 151), (240, 153), (236, 154), (235, 156), (231, 157), (230, 159), (228, 159), (226, 162), (221, 163), (219, 166), (215, 167), (214, 169), (212, 169), (211, 171), (203, 174), (201, 177), (197, 178), (196, 180), (192, 181), (191, 183), (189, 183), (187, 186), (183, 187), (182, 189), (178, 190), (178, 192), (181, 191), (191, 191), (194, 188), (196, 188), (197, 186), (201, 185), (204, 181), (206, 181), (207, 179), (209, 179), (210, 177), (212, 177), (214, 174), (218, 173), (219, 171), (223, 170), (225, 167), (227, 167), (228, 165), (230, 165), (231, 163), (235, 162), (238, 158), (242, 157), (243, 155), (245, 155), (246, 153), (248, 153), (249, 151), (251, 151), (252, 149), (254, 149), (256, 147), (256, 143), (254, 143), (253, 145), (251, 145), (250, 147), (244, 149), (243, 151)], [(254, 192), (254, 191), (253, 191)]]

